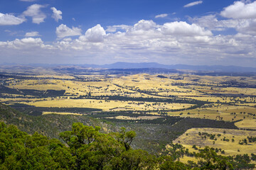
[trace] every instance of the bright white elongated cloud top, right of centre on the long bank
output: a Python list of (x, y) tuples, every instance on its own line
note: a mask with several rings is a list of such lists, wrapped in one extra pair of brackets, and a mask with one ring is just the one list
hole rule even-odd
[(175, 21), (172, 23), (164, 23), (161, 30), (166, 35), (181, 35), (181, 36), (204, 36), (213, 35), (210, 30), (205, 30), (196, 24), (188, 24), (183, 21)]

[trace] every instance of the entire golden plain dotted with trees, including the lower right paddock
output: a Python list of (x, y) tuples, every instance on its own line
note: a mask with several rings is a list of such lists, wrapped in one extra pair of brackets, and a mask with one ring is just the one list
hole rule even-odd
[[(6, 71), (6, 69), (3, 69)], [(3, 71), (0, 69), (0, 71)], [(96, 70), (97, 71), (97, 70)], [(3, 71), (4, 72), (4, 71)], [(15, 74), (13, 74), (15, 72)], [(193, 74), (100, 74), (61, 73), (53, 69), (8, 71), (0, 77), (0, 102), (36, 108), (97, 108), (105, 112), (151, 114), (137, 118), (110, 115), (118, 120), (149, 120), (170, 115), (234, 122), (240, 129), (192, 128), (178, 137), (191, 151), (193, 145), (225, 150), (226, 155), (256, 153), (256, 145), (239, 145), (239, 140), (256, 137), (256, 77), (202, 76)], [(21, 75), (20, 75), (21, 74)], [(43, 111), (43, 114), (80, 114)], [(198, 132), (220, 134), (215, 144)], [(188, 135), (186, 135), (188, 134)], [(223, 137), (230, 141), (223, 141)], [(231, 140), (235, 142), (231, 142)], [(238, 152), (240, 150), (240, 152)], [(188, 159), (188, 158), (184, 158)]]

